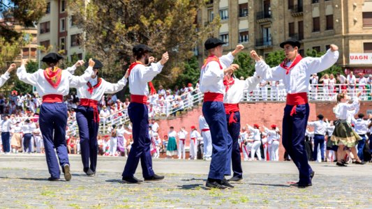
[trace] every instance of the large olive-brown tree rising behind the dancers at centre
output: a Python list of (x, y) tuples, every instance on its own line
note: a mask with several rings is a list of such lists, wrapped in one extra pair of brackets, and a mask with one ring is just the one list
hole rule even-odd
[(74, 20), (85, 31), (87, 51), (103, 59), (107, 79), (119, 79), (133, 61), (132, 47), (142, 43), (160, 59), (170, 53), (170, 61), (157, 84), (172, 84), (185, 70), (184, 61), (193, 56), (198, 40), (208, 36), (219, 24), (216, 18), (200, 29), (195, 20), (204, 0), (91, 0), (69, 1)]

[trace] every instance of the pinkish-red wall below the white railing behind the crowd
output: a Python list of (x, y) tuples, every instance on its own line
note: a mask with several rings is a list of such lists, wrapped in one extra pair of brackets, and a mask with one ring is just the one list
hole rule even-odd
[[(325, 118), (329, 120), (334, 120), (333, 107), (335, 102), (311, 102), (310, 103), (310, 116), (309, 121), (316, 120), (318, 114), (322, 114)], [(269, 127), (271, 124), (276, 124), (281, 130), (283, 109), (285, 107), (284, 102), (257, 102), (257, 103), (241, 103), (239, 104), (240, 114), (241, 114), (241, 125), (246, 125), (247, 123), (253, 126), (254, 123), (262, 126), (265, 125)], [(367, 109), (372, 109), (372, 102), (362, 102), (360, 111), (366, 114)], [(163, 120), (157, 121), (160, 126), (159, 133), (161, 139), (168, 133), (169, 127), (173, 126), (176, 132), (179, 131), (181, 126), (186, 127), (187, 132), (191, 132), (191, 126), (195, 125), (199, 127), (198, 119), (202, 113), (202, 107), (198, 109), (193, 109), (181, 118), (176, 118), (173, 120)], [(198, 129), (199, 130), (199, 129)], [(188, 140), (187, 146), (189, 144)], [(280, 159), (283, 159), (284, 148), (281, 145), (279, 148)]]

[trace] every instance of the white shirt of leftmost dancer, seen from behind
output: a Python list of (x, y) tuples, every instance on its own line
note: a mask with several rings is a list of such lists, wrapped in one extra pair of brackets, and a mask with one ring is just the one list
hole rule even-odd
[(39, 69), (34, 73), (28, 73), (26, 72), (24, 65), (21, 65), (20, 68), (17, 69), (17, 77), (26, 84), (36, 86), (36, 91), (38, 91), (40, 97), (48, 94), (68, 95), (70, 87), (87, 84), (91, 76), (94, 75), (92, 69), (93, 68), (88, 67), (81, 76), (74, 76), (68, 72), (68, 70), (62, 70), (61, 83), (57, 88), (53, 88), (53, 86), (47, 82), (47, 79), (45, 79), (44, 76), (44, 70), (42, 69)]

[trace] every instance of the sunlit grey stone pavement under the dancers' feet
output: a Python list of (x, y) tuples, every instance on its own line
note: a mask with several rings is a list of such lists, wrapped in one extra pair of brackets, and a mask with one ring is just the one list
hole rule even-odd
[(244, 181), (221, 191), (204, 187), (209, 162), (154, 160), (165, 180), (128, 185), (125, 161), (100, 156), (88, 177), (70, 155), (72, 180), (49, 182), (45, 156), (0, 155), (0, 208), (372, 208), (372, 164), (311, 163), (313, 187), (298, 189), (288, 186), (298, 176), (292, 162), (243, 162)]

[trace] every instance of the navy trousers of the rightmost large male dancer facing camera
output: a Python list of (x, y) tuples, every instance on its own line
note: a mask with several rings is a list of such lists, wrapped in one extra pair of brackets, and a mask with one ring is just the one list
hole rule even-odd
[(310, 173), (313, 171), (308, 164), (305, 149), (305, 131), (310, 108), (308, 104), (299, 104), (296, 114), (290, 116), (292, 107), (287, 104), (284, 108), (282, 143), (299, 169), (299, 185), (307, 185), (311, 183)]

